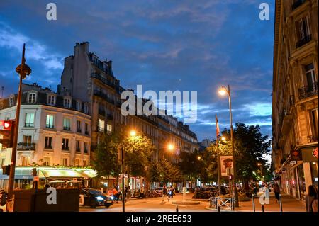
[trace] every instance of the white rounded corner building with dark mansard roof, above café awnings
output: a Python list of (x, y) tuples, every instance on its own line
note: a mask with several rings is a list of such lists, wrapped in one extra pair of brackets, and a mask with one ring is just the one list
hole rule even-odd
[[(0, 100), (0, 120), (16, 118), (16, 98)], [(16, 166), (89, 166), (89, 103), (59, 96), (38, 84), (23, 84)], [(0, 144), (1, 166), (9, 165), (11, 148)]]

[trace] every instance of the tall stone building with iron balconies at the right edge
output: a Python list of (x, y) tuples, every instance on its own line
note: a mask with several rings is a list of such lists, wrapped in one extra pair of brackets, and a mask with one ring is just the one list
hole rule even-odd
[(284, 193), (318, 186), (318, 1), (277, 0), (272, 164)]

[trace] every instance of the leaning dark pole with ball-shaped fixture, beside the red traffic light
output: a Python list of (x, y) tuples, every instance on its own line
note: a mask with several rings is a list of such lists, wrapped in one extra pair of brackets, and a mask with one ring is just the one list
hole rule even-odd
[[(30, 67), (26, 64), (26, 59), (24, 58), (24, 53), (26, 52), (26, 43), (23, 43), (21, 64), (16, 67), (16, 72), (20, 74), (18, 98), (16, 101), (16, 126), (14, 128), (13, 136), (13, 147), (11, 153), (11, 165), (10, 165), (10, 175), (9, 175), (9, 188), (8, 188), (8, 201), (13, 198), (13, 188), (14, 188), (14, 173), (16, 168), (16, 146), (18, 144), (18, 128), (20, 119), (20, 108), (21, 108), (21, 94), (22, 94), (22, 80), (26, 78), (27, 75), (31, 73)], [(9, 210), (9, 205), (6, 205), (6, 210)]]

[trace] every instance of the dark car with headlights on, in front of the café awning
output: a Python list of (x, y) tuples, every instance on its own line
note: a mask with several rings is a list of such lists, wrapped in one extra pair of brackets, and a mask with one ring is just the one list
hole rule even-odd
[(113, 205), (113, 198), (93, 188), (82, 188), (80, 205), (89, 205), (91, 208), (96, 208), (96, 206), (110, 207)]

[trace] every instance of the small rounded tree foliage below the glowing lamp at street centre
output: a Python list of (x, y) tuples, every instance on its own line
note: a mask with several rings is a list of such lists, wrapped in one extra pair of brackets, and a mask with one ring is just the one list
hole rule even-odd
[(179, 167), (165, 157), (161, 157), (158, 162), (154, 162), (151, 168), (151, 181), (153, 182), (181, 182), (183, 175)]

